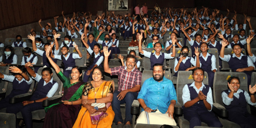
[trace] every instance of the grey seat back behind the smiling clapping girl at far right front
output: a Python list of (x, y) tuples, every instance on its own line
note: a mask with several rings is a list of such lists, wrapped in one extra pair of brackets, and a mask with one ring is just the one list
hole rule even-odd
[[(228, 89), (227, 80), (231, 76), (239, 77), (240, 89), (247, 91), (247, 76), (242, 72), (221, 72), (216, 71), (213, 80), (213, 100), (220, 105), (223, 105), (221, 92)], [(248, 91), (247, 91), (248, 92)], [(247, 104), (247, 110), (250, 113), (250, 106)]]

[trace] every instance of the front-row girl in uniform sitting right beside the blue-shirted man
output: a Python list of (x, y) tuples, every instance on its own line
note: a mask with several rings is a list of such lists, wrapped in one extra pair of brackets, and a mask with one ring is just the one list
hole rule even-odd
[(204, 70), (192, 71), (194, 82), (186, 84), (182, 90), (184, 119), (189, 121), (189, 128), (201, 126), (205, 122), (209, 127), (222, 128), (223, 125), (212, 112), (212, 89), (203, 83)]

